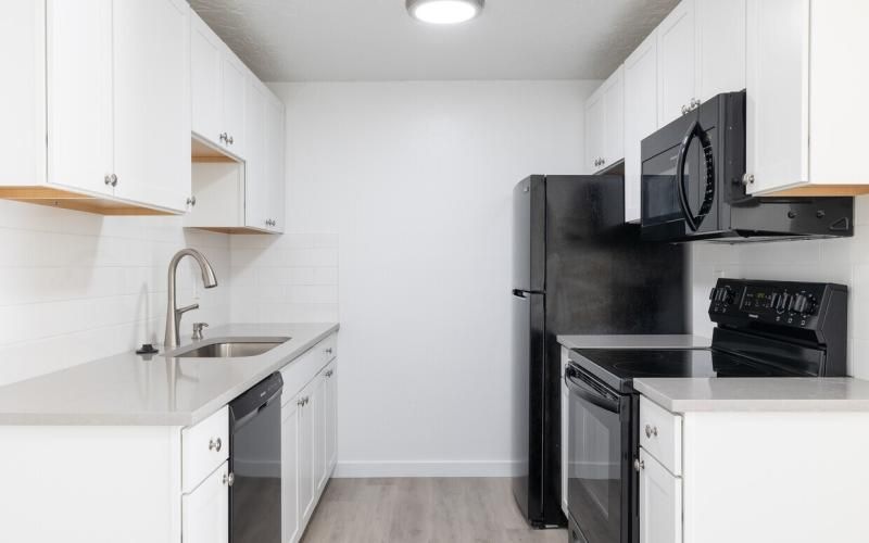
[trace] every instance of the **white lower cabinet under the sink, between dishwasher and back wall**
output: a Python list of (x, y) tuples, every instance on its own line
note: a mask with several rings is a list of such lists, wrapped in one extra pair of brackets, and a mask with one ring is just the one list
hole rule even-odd
[[(293, 364), (328, 359), (333, 338), (308, 351)], [(328, 353), (328, 354), (326, 354)], [(286, 380), (281, 407), (281, 464), (284, 470), (284, 543), (295, 543), (304, 533), (336, 465), (337, 361), (331, 359), (316, 377), (293, 395)]]

